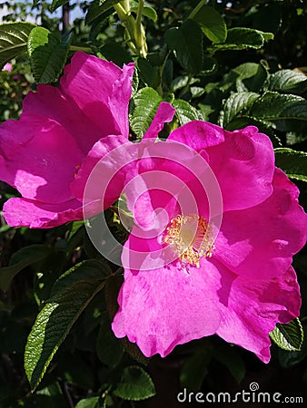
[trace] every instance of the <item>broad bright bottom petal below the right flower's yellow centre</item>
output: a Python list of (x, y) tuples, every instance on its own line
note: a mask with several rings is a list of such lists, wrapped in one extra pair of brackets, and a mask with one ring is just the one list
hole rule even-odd
[(142, 265), (138, 271), (129, 269), (127, 262), (130, 255), (134, 257), (133, 251), (150, 253), (159, 247), (154, 242), (132, 233), (125, 243), (124, 284), (112, 327), (117, 337), (127, 335), (144, 355), (165, 356), (175, 345), (215, 333), (220, 322), (220, 285), (213, 277), (215, 267), (209, 263), (202, 270), (193, 267), (191, 273), (181, 263), (154, 270), (142, 270)]

